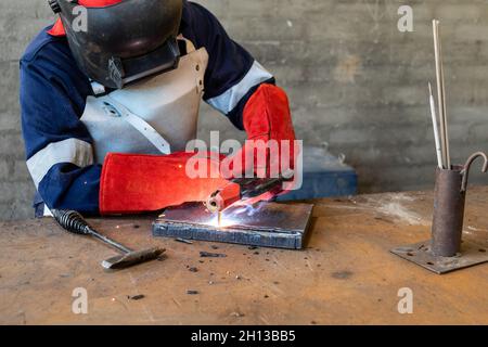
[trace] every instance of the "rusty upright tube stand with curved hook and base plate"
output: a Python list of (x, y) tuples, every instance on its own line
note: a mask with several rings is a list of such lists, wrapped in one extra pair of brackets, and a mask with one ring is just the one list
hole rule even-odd
[(464, 206), (470, 169), (483, 157), (483, 172), (488, 171), (488, 157), (473, 154), (464, 166), (437, 168), (434, 194), (432, 239), (391, 249), (391, 253), (437, 274), (442, 274), (488, 261), (488, 247), (462, 240)]

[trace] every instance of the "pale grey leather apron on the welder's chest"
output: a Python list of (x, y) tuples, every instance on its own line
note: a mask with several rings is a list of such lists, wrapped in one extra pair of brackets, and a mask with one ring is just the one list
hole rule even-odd
[(88, 97), (80, 120), (93, 139), (95, 163), (107, 153), (169, 154), (196, 138), (208, 64), (205, 48), (187, 42), (177, 69), (103, 97)]

